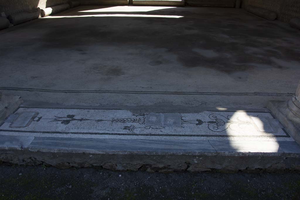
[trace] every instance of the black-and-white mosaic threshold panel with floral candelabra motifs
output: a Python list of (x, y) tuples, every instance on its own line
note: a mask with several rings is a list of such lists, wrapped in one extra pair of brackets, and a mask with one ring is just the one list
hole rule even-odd
[(20, 107), (1, 135), (116, 138), (294, 141), (269, 112), (144, 113), (127, 110)]

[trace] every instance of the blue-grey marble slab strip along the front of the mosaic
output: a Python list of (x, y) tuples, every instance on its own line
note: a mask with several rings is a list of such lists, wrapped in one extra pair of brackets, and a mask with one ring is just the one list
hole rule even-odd
[(295, 141), (149, 140), (0, 135), (0, 149), (149, 155), (280, 156), (284, 154), (300, 157), (300, 146)]

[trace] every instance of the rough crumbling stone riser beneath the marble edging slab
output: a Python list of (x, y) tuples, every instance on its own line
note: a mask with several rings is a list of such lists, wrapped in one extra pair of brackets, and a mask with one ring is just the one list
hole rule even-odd
[(44, 163), (58, 168), (103, 167), (117, 171), (146, 170), (149, 172), (203, 172), (210, 170), (237, 172), (238, 170), (258, 168), (276, 171), (299, 170), (300, 166), (298, 158), (285, 156), (203, 156), (199, 159), (199, 157), (189, 155), (72, 154), (27, 150), (1, 150), (0, 161), (19, 165)]

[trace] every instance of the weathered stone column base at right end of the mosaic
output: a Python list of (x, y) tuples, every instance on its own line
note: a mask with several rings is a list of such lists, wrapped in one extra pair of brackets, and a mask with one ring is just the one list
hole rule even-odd
[(293, 103), (293, 100), (288, 101), (269, 101), (267, 108), (271, 110), (274, 117), (280, 121), (288, 133), (300, 145), (300, 117)]

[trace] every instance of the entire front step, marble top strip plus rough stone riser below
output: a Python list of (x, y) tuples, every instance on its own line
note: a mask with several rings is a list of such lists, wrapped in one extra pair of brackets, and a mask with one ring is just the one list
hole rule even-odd
[[(269, 171), (300, 169), (300, 147), (295, 142), (278, 142), (274, 150), (234, 152), (243, 142), (170, 141), (49, 138), (0, 136), (0, 163), (51, 165), (58, 168), (103, 167), (111, 170), (139, 169), (149, 172), (267, 169)], [(262, 142), (256, 143), (256, 148)], [(268, 142), (275, 145), (277, 142)], [(227, 147), (226, 147), (227, 144)], [(156, 145), (156, 147), (155, 147)], [(292, 148), (293, 147), (293, 148)], [(251, 150), (252, 149), (252, 150)], [(252, 151), (252, 152), (250, 152)], [(287, 159), (288, 158), (288, 159)]]

